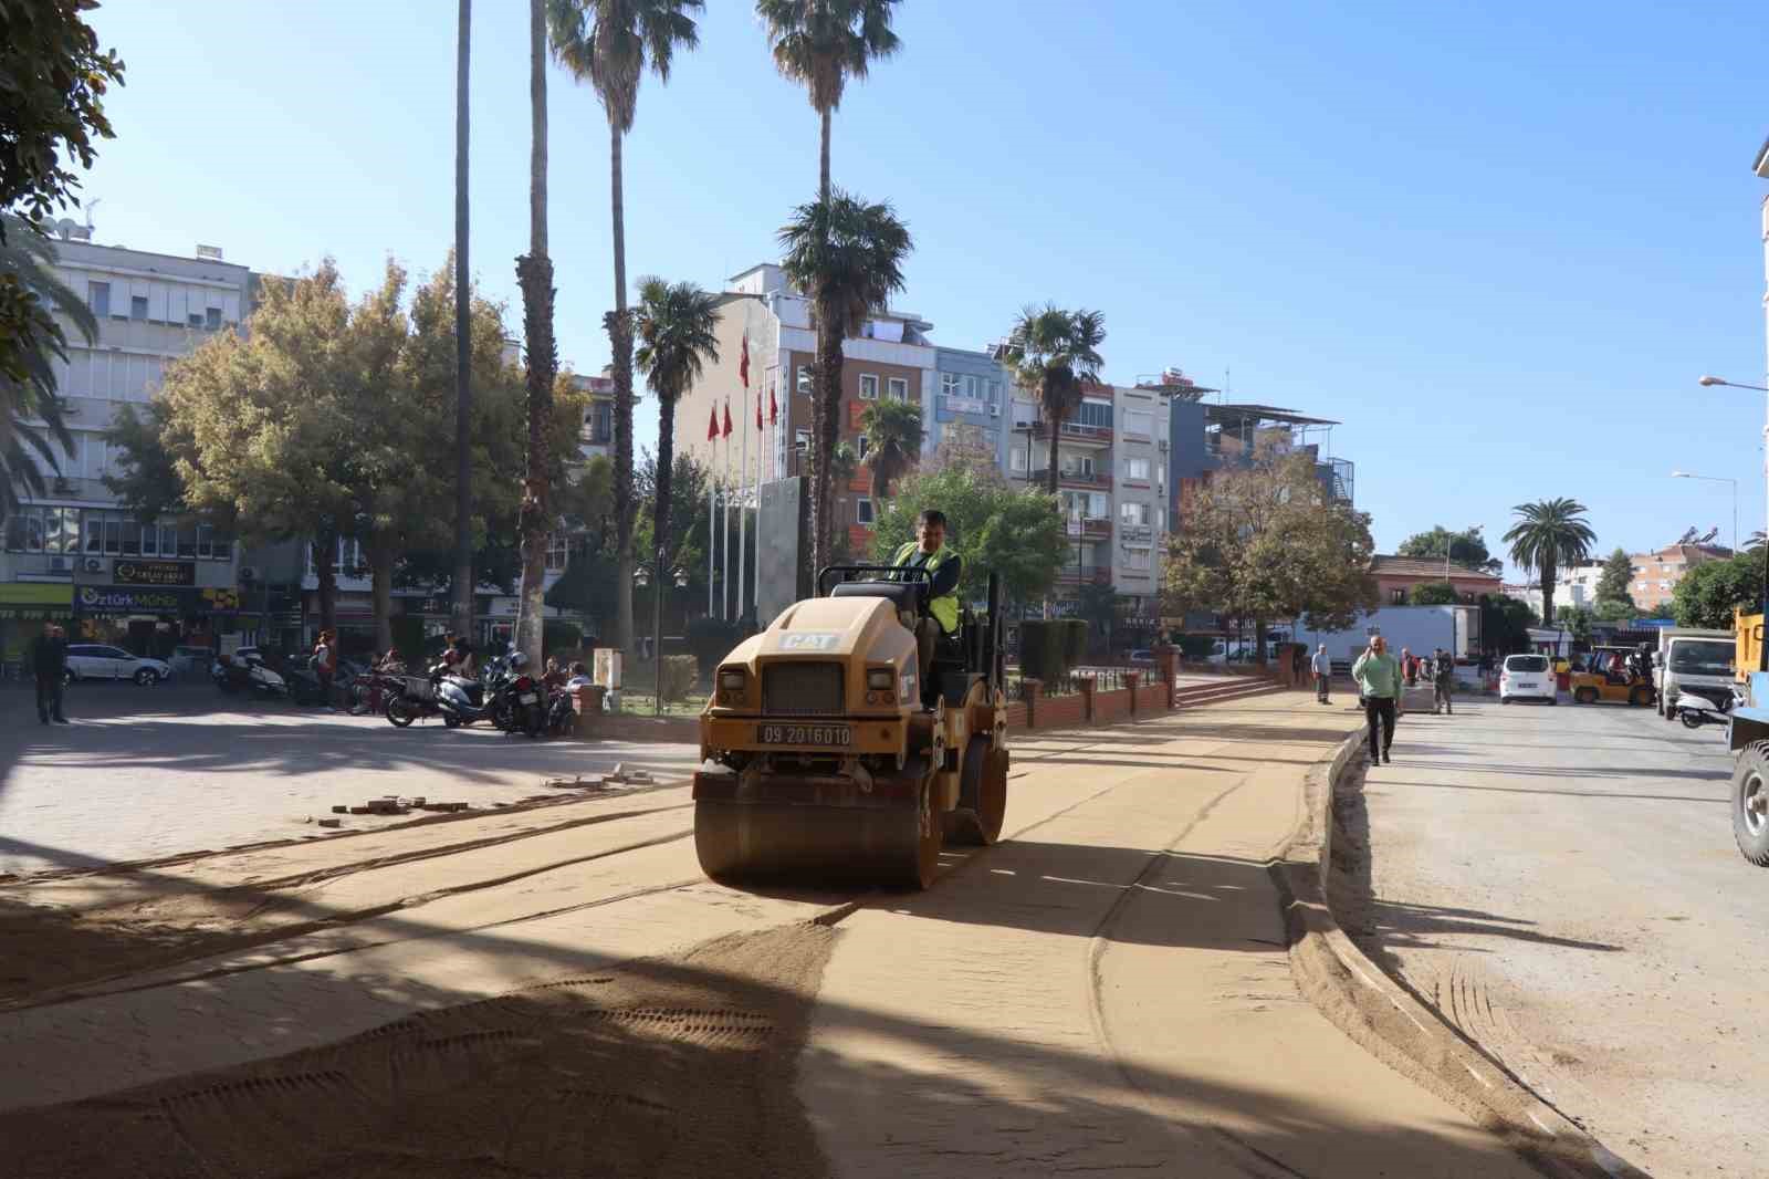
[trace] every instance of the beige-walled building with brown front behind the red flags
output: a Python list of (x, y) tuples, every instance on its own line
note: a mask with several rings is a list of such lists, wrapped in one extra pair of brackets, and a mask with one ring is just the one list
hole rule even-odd
[[(754, 487), (810, 473), (812, 368), (817, 333), (810, 326), (810, 303), (794, 290), (771, 262), (734, 274), (720, 299), (718, 363), (708, 365), (676, 405), (676, 446), (711, 467), (720, 478), (731, 471), (732, 487)], [(932, 420), (938, 374), (936, 349), (927, 342), (932, 324), (911, 312), (881, 312), (860, 335), (842, 342), (842, 404), (839, 441), (853, 446), (860, 464), (844, 487), (837, 487), (831, 510), (846, 528), (847, 543), (862, 554), (872, 542), (870, 473), (860, 420), (881, 398), (909, 400)], [(748, 384), (743, 382), (745, 342)], [(761, 425), (757, 427), (757, 407)], [(724, 432), (725, 414), (732, 430)], [(701, 423), (711, 421), (716, 437)], [(925, 439), (923, 439), (925, 446)]]

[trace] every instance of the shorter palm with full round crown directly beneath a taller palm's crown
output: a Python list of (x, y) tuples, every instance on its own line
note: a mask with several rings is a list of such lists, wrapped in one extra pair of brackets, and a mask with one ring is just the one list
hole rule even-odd
[(833, 480), (817, 455), (833, 455), (842, 411), (842, 340), (902, 290), (902, 264), (913, 250), (909, 227), (890, 204), (865, 204), (837, 189), (830, 200), (800, 205), (780, 230), (780, 269), (810, 299), (817, 329), (817, 388), (812, 397), (810, 563), (828, 565)]

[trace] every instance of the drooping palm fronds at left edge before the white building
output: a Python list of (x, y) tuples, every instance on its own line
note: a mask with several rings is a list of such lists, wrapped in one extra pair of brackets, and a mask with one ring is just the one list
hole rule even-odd
[[(9, 333), (23, 342), (21, 372), (0, 374), (0, 517), (18, 512), (18, 489), (41, 496), (42, 469), (60, 471), (53, 439), (67, 455), (74, 439), (62, 421), (55, 395), (55, 361), (67, 361), (67, 335), (50, 312), (73, 320), (87, 343), (97, 338), (97, 319), (85, 301), (50, 269), (55, 246), (23, 218), (0, 214), (0, 313)], [(44, 437), (30, 420), (42, 421)], [(39, 466), (42, 464), (42, 466)]]

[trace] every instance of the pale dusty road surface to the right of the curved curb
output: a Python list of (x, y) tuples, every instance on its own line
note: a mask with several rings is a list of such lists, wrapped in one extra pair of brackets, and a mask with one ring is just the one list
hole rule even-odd
[(1339, 797), (1334, 910), (1456, 1032), (1654, 1175), (1764, 1174), (1769, 875), (1723, 735), (1458, 705)]

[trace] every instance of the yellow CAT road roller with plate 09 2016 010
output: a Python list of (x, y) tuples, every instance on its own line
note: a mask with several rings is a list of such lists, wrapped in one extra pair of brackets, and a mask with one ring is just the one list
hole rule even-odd
[(1001, 836), (1001, 581), (989, 574), (987, 613), (961, 611), (918, 683), (930, 584), (920, 568), (831, 565), (817, 597), (718, 666), (701, 713), (701, 759), (718, 768), (693, 775), (708, 876), (925, 889), (943, 844)]

